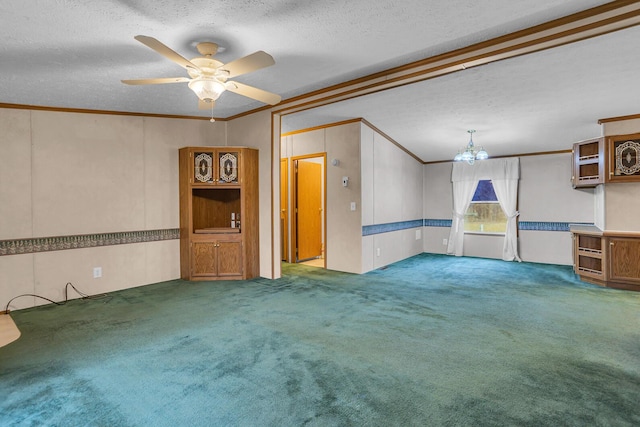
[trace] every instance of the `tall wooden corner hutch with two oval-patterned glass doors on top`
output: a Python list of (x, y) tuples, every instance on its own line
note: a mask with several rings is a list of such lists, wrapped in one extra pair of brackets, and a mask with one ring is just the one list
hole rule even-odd
[(258, 276), (258, 151), (185, 147), (179, 153), (180, 277)]

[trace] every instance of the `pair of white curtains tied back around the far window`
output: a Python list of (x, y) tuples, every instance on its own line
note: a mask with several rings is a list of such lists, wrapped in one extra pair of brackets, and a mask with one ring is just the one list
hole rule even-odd
[(451, 171), (453, 183), (453, 220), (449, 234), (447, 254), (462, 256), (464, 242), (464, 214), (469, 208), (478, 181), (490, 179), (498, 202), (507, 216), (507, 231), (504, 236), (502, 259), (521, 261), (518, 256), (518, 230), (516, 211), (518, 202), (518, 180), (520, 159), (488, 159), (470, 165), (456, 162)]

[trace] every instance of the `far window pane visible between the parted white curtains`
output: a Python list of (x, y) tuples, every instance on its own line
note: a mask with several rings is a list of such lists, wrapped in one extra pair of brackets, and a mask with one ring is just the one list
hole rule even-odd
[(500, 207), (491, 180), (479, 181), (464, 215), (465, 233), (504, 234), (506, 230), (507, 217)]

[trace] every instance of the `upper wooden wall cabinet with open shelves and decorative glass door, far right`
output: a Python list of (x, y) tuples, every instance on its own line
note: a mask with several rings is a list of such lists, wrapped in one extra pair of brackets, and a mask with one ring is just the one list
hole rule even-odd
[(640, 134), (576, 142), (572, 153), (574, 188), (640, 181)]

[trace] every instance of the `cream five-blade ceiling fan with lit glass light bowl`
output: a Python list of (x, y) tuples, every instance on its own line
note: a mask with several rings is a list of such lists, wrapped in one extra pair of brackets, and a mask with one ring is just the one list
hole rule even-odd
[(192, 60), (187, 60), (160, 41), (148, 36), (135, 36), (136, 40), (145, 46), (155, 50), (165, 58), (187, 70), (189, 77), (164, 77), (158, 79), (122, 80), (128, 85), (153, 85), (165, 83), (187, 83), (189, 89), (198, 96), (200, 109), (212, 109), (216, 99), (222, 92), (228, 90), (265, 104), (275, 105), (280, 102), (280, 95), (267, 92), (253, 86), (228, 79), (242, 74), (269, 67), (275, 61), (266, 52), (257, 51), (245, 57), (236, 59), (227, 64), (213, 58), (218, 51), (218, 45), (212, 42), (198, 43), (196, 49), (202, 55)]

